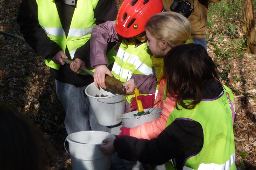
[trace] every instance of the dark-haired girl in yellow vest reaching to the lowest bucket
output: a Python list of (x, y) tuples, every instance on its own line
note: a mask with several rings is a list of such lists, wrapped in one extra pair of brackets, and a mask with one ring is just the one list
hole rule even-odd
[(173, 47), (164, 57), (167, 91), (176, 108), (158, 138), (123, 135), (105, 139), (106, 154), (166, 169), (236, 169), (233, 134), (234, 98), (222, 85), (217, 67), (203, 46)]

